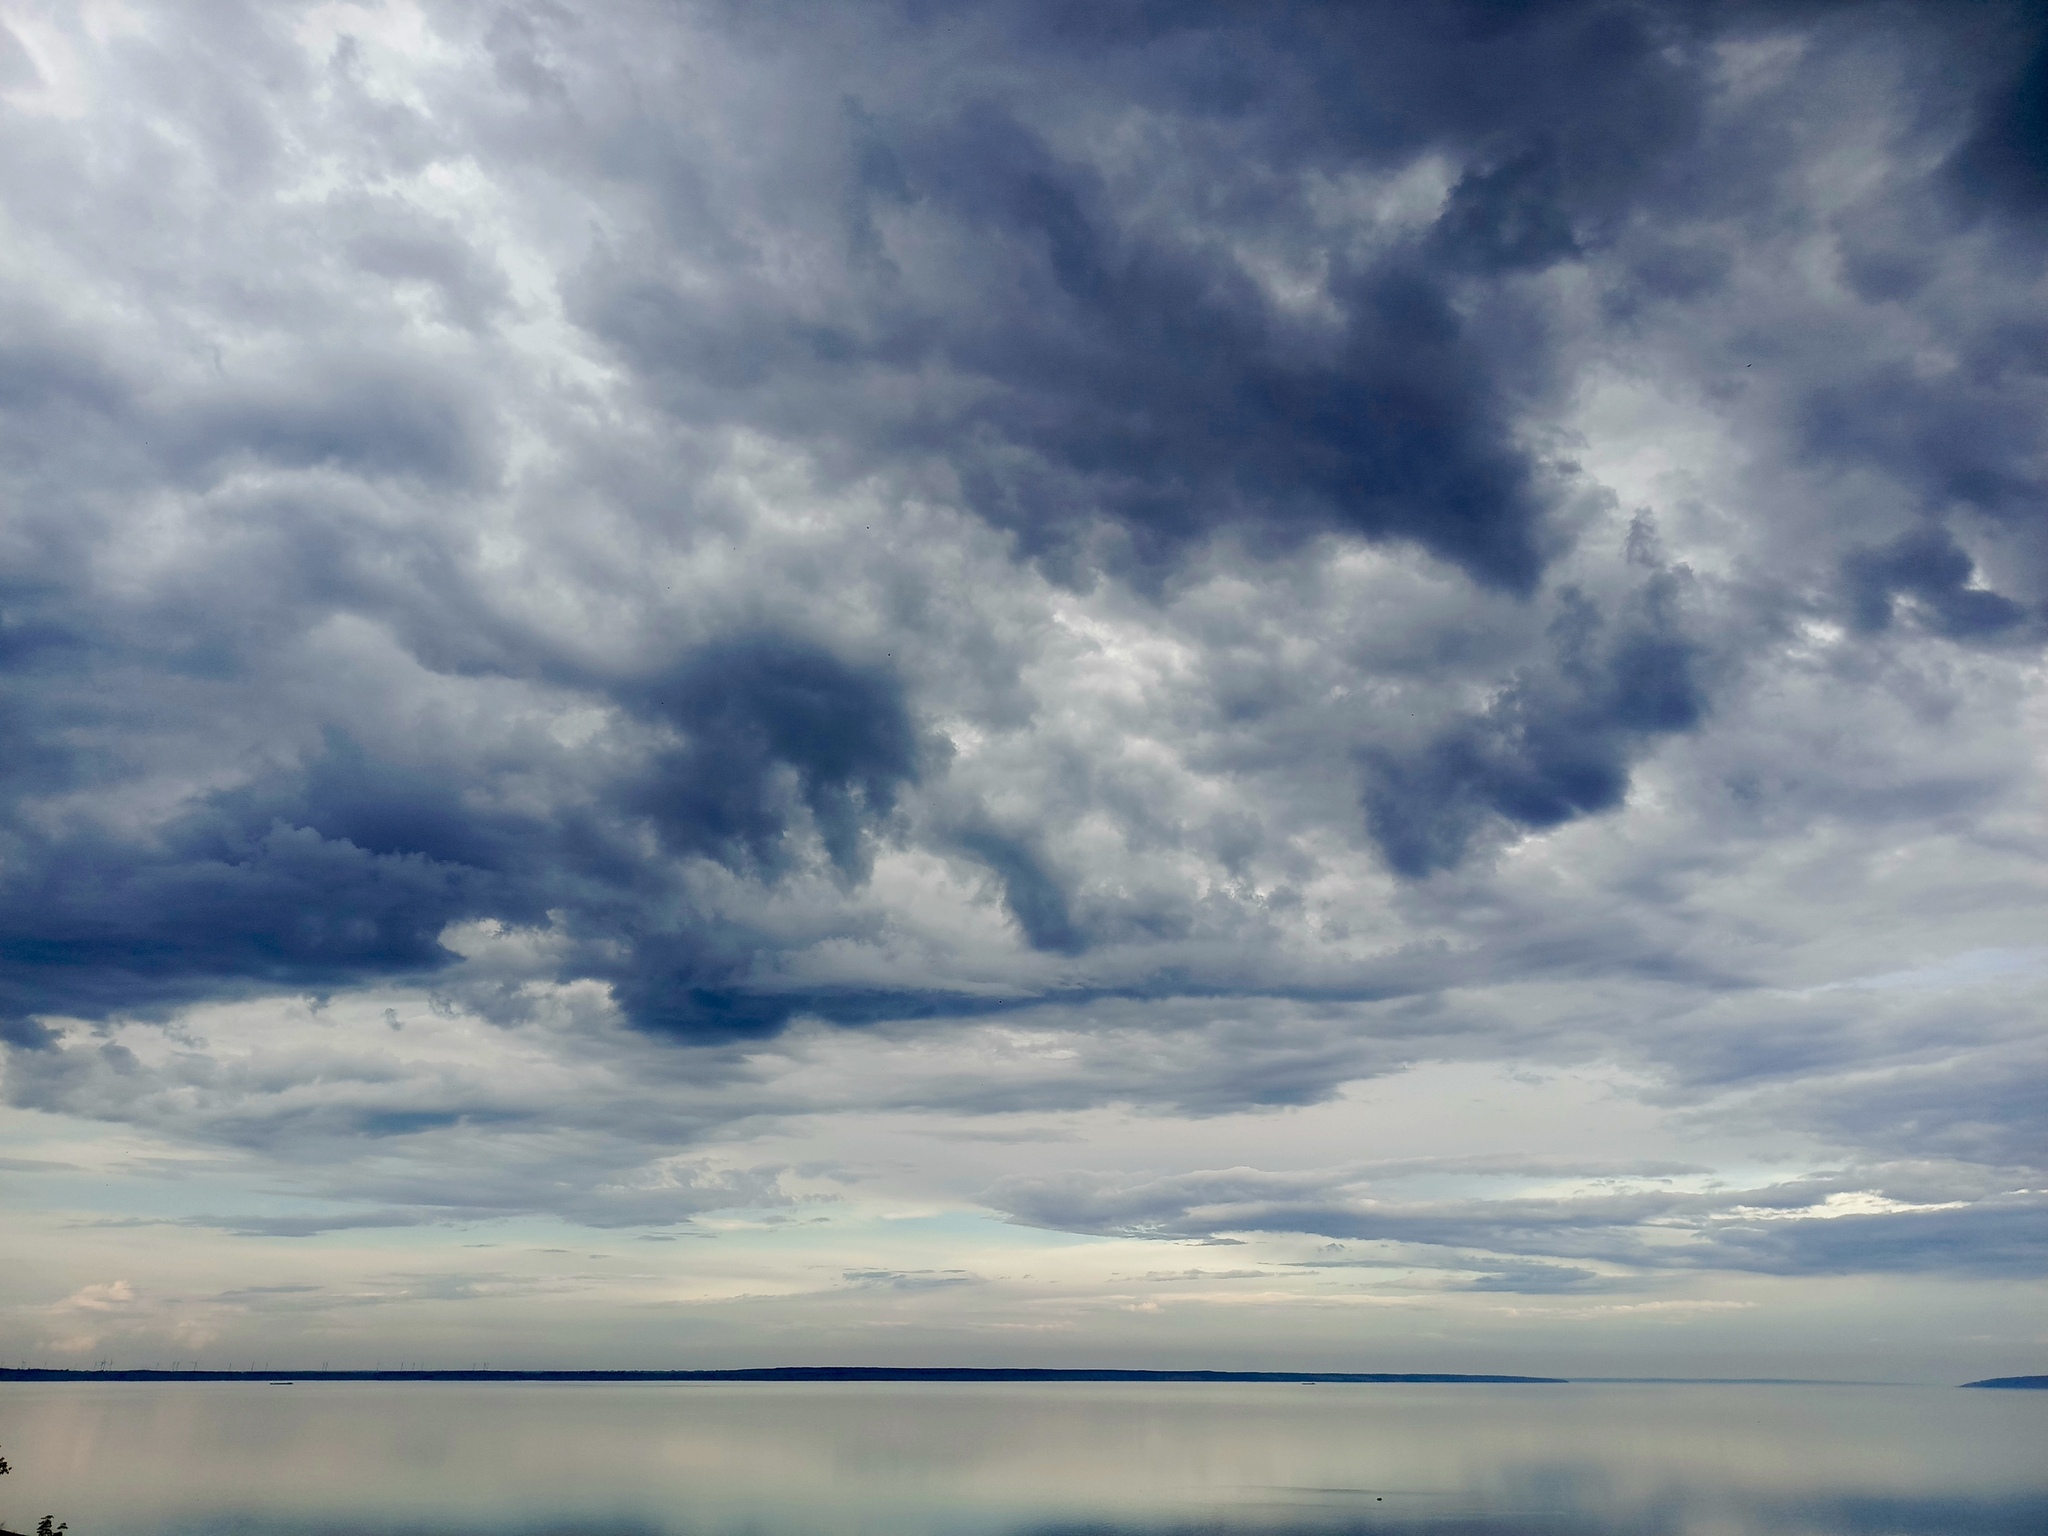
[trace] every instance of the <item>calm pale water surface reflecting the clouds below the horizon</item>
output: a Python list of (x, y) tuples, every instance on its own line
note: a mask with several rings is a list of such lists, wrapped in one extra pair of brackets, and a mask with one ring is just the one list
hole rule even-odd
[(2048, 1393), (0, 1384), (74, 1536), (2042, 1536)]

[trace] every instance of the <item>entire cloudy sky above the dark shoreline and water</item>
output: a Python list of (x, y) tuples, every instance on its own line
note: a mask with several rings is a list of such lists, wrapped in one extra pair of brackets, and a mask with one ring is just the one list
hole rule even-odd
[(2038, 8), (0, 14), (0, 1364), (2048, 1368)]

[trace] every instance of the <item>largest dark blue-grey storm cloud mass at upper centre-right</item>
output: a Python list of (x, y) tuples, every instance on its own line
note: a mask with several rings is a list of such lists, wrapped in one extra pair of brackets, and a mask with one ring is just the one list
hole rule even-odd
[[(1073, 580), (1092, 557), (1157, 571), (1231, 528), (1411, 541), (1536, 586), (1556, 535), (1513, 416), (1548, 362), (1511, 279), (1602, 242), (1683, 147), (1702, 90), (1683, 27), (1612, 6), (862, 14), (872, 45), (915, 57), (958, 29), (1001, 61), (952, 53), (920, 90), (879, 72), (850, 96), (823, 203), (846, 229), (807, 231), (844, 244), (829, 315), (750, 270), (760, 250), (733, 252), (715, 307), (659, 276), (664, 252), (588, 272), (580, 313), (672, 410), (944, 467)], [(1178, 123), (1171, 152), (1139, 152), (1178, 207), (1057, 143), (1061, 115), (1118, 96)], [(1282, 180), (1434, 145), (1470, 164), (1442, 215), (1358, 254)], [(940, 242), (942, 264), (891, 260), (879, 221)], [(1323, 313), (1290, 315), (1245, 242), (1321, 264)]]

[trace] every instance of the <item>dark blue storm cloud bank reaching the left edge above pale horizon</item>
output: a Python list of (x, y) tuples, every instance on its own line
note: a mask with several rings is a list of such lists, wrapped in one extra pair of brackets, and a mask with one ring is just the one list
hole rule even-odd
[(393, 760), (330, 727), (297, 768), (219, 791), (147, 842), (16, 823), (0, 1004), (12, 1018), (106, 1016), (250, 985), (326, 991), (446, 967), (449, 924), (537, 924), (559, 907), (571, 936), (604, 950), (580, 954), (580, 971), (614, 981), (645, 1024), (719, 1034), (829, 1012), (719, 985), (756, 940), (649, 913), (674, 893), (631, 834), (651, 825), (680, 856), (774, 879), (803, 813), (831, 866), (858, 879), (872, 827), (918, 772), (897, 686), (768, 635), (719, 641), (616, 696), (674, 745), (600, 782), (596, 809), (492, 803), (455, 762)]

